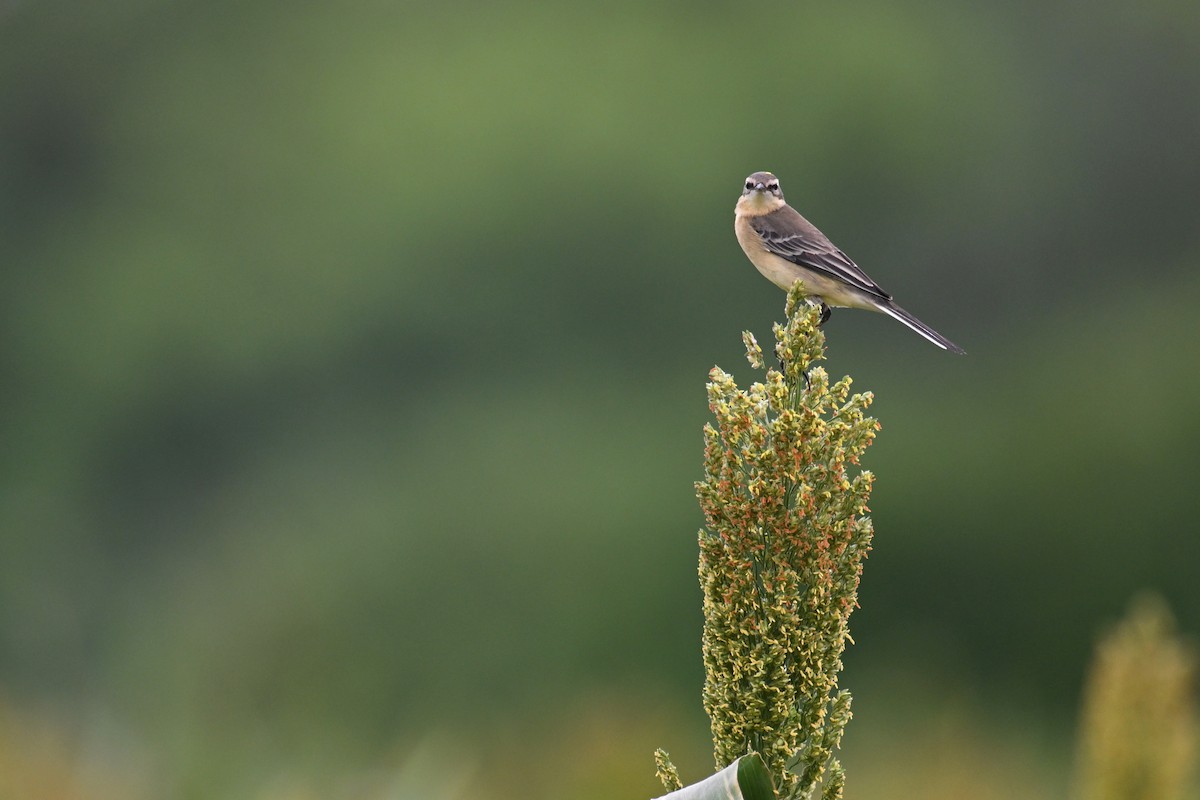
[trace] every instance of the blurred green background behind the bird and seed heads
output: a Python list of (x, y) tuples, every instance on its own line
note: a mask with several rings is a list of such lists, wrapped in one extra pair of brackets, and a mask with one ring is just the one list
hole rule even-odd
[(707, 774), (769, 169), (970, 351), (826, 326), (883, 425), (850, 796), (1061, 796), (1100, 627), (1200, 627), (1198, 143), (1182, 0), (0, 2), (0, 788)]

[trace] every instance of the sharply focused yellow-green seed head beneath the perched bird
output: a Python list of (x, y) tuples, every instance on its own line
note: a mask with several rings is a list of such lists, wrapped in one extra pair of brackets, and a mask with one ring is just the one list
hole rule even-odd
[[(787, 314), (775, 325), (779, 369), (749, 390), (719, 368), (709, 375), (715, 420), (696, 483), (704, 709), (719, 769), (756, 751), (780, 796), (811, 798), (823, 784), (832, 800), (850, 720), (838, 673), (871, 542), (872, 476), (857, 464), (878, 425), (865, 414), (870, 393), (851, 395), (850, 378), (830, 385), (812, 366), (824, 357), (820, 309), (793, 289)], [(762, 368), (754, 336), (744, 341)]]

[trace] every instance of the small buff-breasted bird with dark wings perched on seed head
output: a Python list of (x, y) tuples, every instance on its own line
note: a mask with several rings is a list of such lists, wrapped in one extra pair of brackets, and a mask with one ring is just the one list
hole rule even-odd
[(821, 323), (829, 307), (865, 308), (907, 325), (950, 353), (966, 350), (920, 321), (892, 300), (817, 227), (787, 205), (779, 179), (770, 173), (746, 178), (734, 210), (733, 230), (746, 258), (762, 275), (785, 291), (797, 281), (821, 302)]

